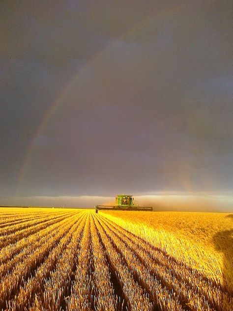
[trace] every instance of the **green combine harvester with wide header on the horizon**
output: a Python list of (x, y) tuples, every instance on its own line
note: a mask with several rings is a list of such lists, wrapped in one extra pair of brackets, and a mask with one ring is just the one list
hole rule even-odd
[(134, 204), (133, 196), (117, 195), (115, 204), (95, 205), (95, 212), (98, 210), (114, 211), (153, 211), (152, 206), (138, 206)]

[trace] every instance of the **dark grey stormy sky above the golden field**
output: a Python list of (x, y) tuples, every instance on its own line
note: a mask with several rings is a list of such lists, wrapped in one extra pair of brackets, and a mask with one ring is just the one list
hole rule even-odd
[(3, 0), (0, 29), (0, 205), (231, 209), (232, 1)]

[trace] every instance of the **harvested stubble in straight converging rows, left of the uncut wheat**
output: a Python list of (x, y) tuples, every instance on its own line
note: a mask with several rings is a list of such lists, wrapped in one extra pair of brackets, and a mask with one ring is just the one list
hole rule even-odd
[(2, 236), (0, 310), (233, 310), (221, 284), (101, 214), (18, 217)]

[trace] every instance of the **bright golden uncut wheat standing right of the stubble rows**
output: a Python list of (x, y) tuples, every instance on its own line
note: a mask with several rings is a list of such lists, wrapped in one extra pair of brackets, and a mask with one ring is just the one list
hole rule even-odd
[(233, 214), (108, 211), (103, 215), (233, 289)]

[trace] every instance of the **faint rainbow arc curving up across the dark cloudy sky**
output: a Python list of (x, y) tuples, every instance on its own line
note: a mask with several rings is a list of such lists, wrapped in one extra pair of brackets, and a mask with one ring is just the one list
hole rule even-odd
[(26, 153), (25, 160), (23, 162), (22, 168), (19, 172), (19, 176), (18, 176), (18, 180), (17, 180), (17, 187), (16, 187), (16, 196), (18, 196), (20, 193), (20, 188), (22, 186), (23, 180), (24, 180), (25, 175), (27, 173), (27, 168), (28, 168), (30, 159), (32, 157), (33, 148), (34, 148), (35, 141), (36, 141), (37, 137), (42, 133), (43, 129), (46, 127), (49, 120), (54, 115), (54, 113), (58, 110), (58, 108), (64, 104), (63, 100), (64, 100), (65, 96), (72, 89), (72, 86), (78, 83), (79, 79), (82, 77), (82, 74), (85, 73), (86, 70), (88, 68), (90, 68), (91, 66), (93, 66), (95, 63), (98, 63), (101, 60), (101, 57), (103, 57), (105, 53), (110, 51), (110, 49), (114, 46), (115, 43), (117, 43), (118, 40), (127, 39), (128, 37), (130, 37), (134, 33), (137, 33), (137, 31), (143, 30), (144, 28), (146, 28), (150, 25), (151, 26), (154, 26), (154, 24), (157, 25), (165, 17), (170, 16), (171, 14), (174, 14), (174, 13), (178, 13), (178, 12), (181, 13), (180, 10), (183, 8), (186, 8), (186, 7), (188, 7), (186, 3), (182, 4), (182, 5), (181, 4), (174, 5), (171, 8), (160, 10), (157, 14), (155, 14), (153, 16), (148, 16), (145, 21), (143, 21), (143, 22), (137, 24), (136, 26), (128, 29), (125, 33), (123, 33), (122, 35), (117, 37), (117, 39), (114, 39), (107, 47), (105, 47), (103, 50), (101, 50), (100, 52), (95, 54), (89, 60), (89, 62), (87, 63), (87, 65), (84, 68), (82, 68), (78, 71), (78, 73), (74, 76), (74, 78), (72, 78), (70, 80), (70, 82), (58, 94), (55, 101), (51, 104), (51, 107), (45, 113), (39, 127), (36, 129), (36, 131), (33, 135), (33, 138), (31, 140), (28, 151)]

